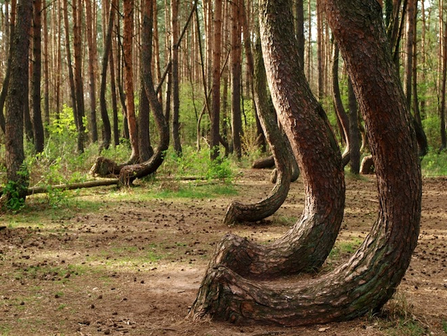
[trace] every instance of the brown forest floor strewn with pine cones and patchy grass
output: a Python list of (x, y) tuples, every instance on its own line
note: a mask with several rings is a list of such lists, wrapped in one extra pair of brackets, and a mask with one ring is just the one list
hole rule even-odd
[[(67, 191), (51, 196), (53, 206), (30, 196), (20, 213), (0, 218), (0, 335), (447, 335), (447, 178), (424, 179), (419, 244), (382, 314), (299, 328), (185, 320), (225, 233), (268, 243), (301, 216), (298, 180), (268, 220), (222, 224), (231, 200), (268, 195), (269, 174), (242, 169), (232, 185), (156, 179)], [(346, 206), (320, 273), (347, 260), (369, 232), (378, 209), (373, 176), (347, 177)]]

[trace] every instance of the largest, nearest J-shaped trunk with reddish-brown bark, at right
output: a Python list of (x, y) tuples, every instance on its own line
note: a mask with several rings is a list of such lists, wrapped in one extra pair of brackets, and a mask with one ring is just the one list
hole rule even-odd
[[(378, 175), (378, 219), (349, 261), (294, 287), (255, 284), (220, 265), (208, 269), (190, 311), (193, 319), (211, 315), (231, 322), (286, 326), (353, 319), (381, 308), (410, 263), (419, 234), (422, 178), (415, 132), (383, 30), (380, 5), (361, 0), (324, 0), (323, 4), (367, 123)], [(263, 34), (266, 23), (284, 30), (280, 15), (290, 14), (282, 12), (281, 5), (289, 8), (283, 1), (263, 1)], [(280, 48), (280, 41), (271, 47)], [(264, 56), (270, 59), (268, 48)], [(396, 139), (400, 146), (395, 146)]]

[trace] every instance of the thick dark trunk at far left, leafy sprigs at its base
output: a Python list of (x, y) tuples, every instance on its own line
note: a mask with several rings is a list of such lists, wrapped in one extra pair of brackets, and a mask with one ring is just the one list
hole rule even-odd
[[(17, 25), (11, 44), (10, 83), (6, 98), (6, 169), (8, 180), (12, 182), (23, 200), (28, 188), (28, 174), (23, 171), (25, 152), (23, 149), (23, 107), (28, 102), (25, 83), (28, 82), (28, 48), (30, 48), (30, 28), (32, 1), (19, 0), (17, 4)], [(8, 198), (11, 195), (6, 195)]]

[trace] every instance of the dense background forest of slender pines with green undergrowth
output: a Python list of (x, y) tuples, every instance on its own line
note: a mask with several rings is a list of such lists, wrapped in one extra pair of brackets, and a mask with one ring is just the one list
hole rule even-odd
[[(194, 156), (195, 150), (209, 151), (221, 143), (226, 157), (240, 160), (244, 156), (253, 160), (262, 156), (268, 148), (252, 100), (250, 74), (251, 45), (258, 35), (256, 1), (246, 1), (236, 11), (228, 1), (171, 2), (153, 2), (156, 19), (151, 43), (152, 82), (171, 128), (173, 146), (168, 153), (176, 161), (182, 151), (186, 156)], [(142, 152), (140, 161), (144, 161), (151, 154), (151, 143), (160, 140), (153, 114), (149, 115), (149, 123), (140, 118), (149, 112), (141, 76), (143, 5), (138, 0), (33, 1), (30, 81), (26, 88), (29, 101), (23, 111), (25, 160), (31, 186), (83, 181), (99, 155), (117, 162), (131, 157), (132, 161), (135, 150), (143, 146), (139, 152)], [(445, 174), (444, 1), (384, 1), (382, 5), (408, 103), (426, 134), (428, 155), (422, 160), (424, 171)], [(221, 9), (219, 16), (217, 7)], [(10, 76), (8, 65), (16, 8), (16, 1), (1, 1), (0, 72), (5, 79), (1, 111)], [(112, 11), (118, 14), (111, 14)], [(294, 14), (307, 80), (343, 147), (347, 140), (340, 113), (349, 114), (356, 108), (348, 102), (345, 66), (342, 60), (338, 61), (331, 32), (317, 1), (296, 1)], [(110, 18), (111, 45), (107, 50)], [(130, 28), (124, 29), (124, 25)], [(219, 32), (216, 27), (220, 27)], [(213, 61), (213, 55), (219, 61)], [(127, 67), (131, 71), (124, 71)], [(129, 99), (131, 96), (134, 98)], [(336, 108), (340, 102), (342, 109), (346, 106), (346, 112)], [(212, 122), (214, 116), (218, 121)], [(135, 119), (142, 124), (139, 128), (132, 121), (129, 123)], [(0, 114), (3, 130), (4, 120), (4, 114)], [(360, 119), (358, 126), (363, 139), (362, 155), (367, 155)], [(216, 132), (217, 136), (213, 136)], [(3, 132), (1, 137), (3, 142)], [(216, 137), (217, 143), (213, 140)], [(138, 138), (146, 139), (145, 145), (138, 145)], [(1, 170), (6, 172), (5, 147), (0, 151)], [(214, 151), (211, 154), (214, 156)], [(211, 165), (208, 160), (201, 163), (204, 164), (200, 165), (201, 170)], [(184, 169), (187, 166), (183, 165)], [(6, 174), (1, 174), (1, 182), (8, 183)]]

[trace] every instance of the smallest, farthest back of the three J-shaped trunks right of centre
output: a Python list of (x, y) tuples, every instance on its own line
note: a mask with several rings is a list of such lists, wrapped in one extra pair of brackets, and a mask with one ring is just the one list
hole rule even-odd
[[(290, 157), (290, 145), (285, 143), (283, 134), (278, 127), (275, 111), (270, 110), (267, 97), (267, 78), (262, 59), (261, 41), (256, 48), (253, 76), (253, 94), (256, 110), (270, 148), (272, 148), (276, 165), (276, 185), (270, 195), (254, 204), (243, 204), (233, 201), (227, 209), (224, 224), (235, 224), (236, 222), (257, 222), (268, 216), (272, 216), (281, 207), (290, 189), (292, 179), (292, 165), (296, 165), (294, 158)], [(289, 146), (288, 146), (289, 145)]]

